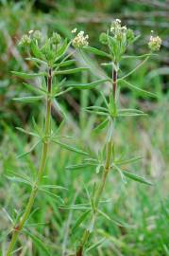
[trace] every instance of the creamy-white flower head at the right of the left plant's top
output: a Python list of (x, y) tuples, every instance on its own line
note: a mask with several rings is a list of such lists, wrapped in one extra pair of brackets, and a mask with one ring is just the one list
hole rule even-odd
[[(76, 28), (72, 30), (72, 33), (76, 33)], [(82, 47), (89, 45), (89, 35), (84, 35), (84, 31), (77, 33), (76, 37), (73, 39), (72, 45), (75, 47)]]

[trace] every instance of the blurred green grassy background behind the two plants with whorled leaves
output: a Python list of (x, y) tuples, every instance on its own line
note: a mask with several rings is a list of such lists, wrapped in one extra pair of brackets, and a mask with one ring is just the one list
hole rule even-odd
[[(122, 119), (118, 123), (116, 144), (119, 155), (143, 155), (139, 163), (130, 170), (142, 174), (153, 181), (153, 187), (145, 187), (134, 182), (124, 185), (116, 174), (110, 174), (104, 198), (110, 199), (103, 210), (114, 218), (120, 218), (130, 228), (116, 227), (109, 221), (99, 218), (90, 245), (106, 238), (104, 243), (91, 249), (87, 255), (169, 255), (169, 1), (160, 0), (59, 0), (59, 1), (0, 1), (0, 245), (3, 255), (7, 246), (8, 229), (11, 228), (9, 215), (23, 210), (29, 188), (20, 183), (10, 182), (7, 175), (12, 172), (33, 176), (38, 167), (40, 149), (32, 155), (18, 159), (16, 155), (28, 150), (33, 141), (24, 137), (15, 127), (32, 126), (32, 117), (41, 123), (44, 106), (20, 104), (13, 98), (29, 94), (23, 81), (11, 75), (10, 71), (32, 70), (32, 64), (25, 61), (25, 52), (19, 49), (18, 41), (30, 29), (40, 29), (43, 33), (58, 31), (71, 39), (74, 27), (85, 30), (90, 36), (90, 46), (102, 47), (98, 37), (114, 18), (134, 29), (141, 38), (129, 49), (129, 54), (146, 53), (150, 31), (161, 36), (162, 46), (159, 56), (151, 58), (130, 82), (154, 92), (158, 99), (143, 98), (139, 93), (122, 91), (121, 104), (126, 107), (139, 107), (146, 111), (148, 118)], [(77, 65), (83, 61), (76, 54)], [(94, 71), (76, 75), (73, 81), (89, 82), (102, 78), (105, 72), (98, 66), (101, 59), (90, 56)], [(139, 64), (132, 60), (122, 64), (126, 73)], [(95, 71), (96, 70), (96, 71)], [(104, 88), (105, 94), (108, 88)], [(98, 119), (84, 113), (87, 105), (101, 104), (97, 91), (71, 91), (59, 99), (66, 121), (61, 128), (64, 135), (72, 135), (70, 143), (82, 148), (98, 150), (103, 144), (105, 133), (93, 135), (93, 127)], [(53, 106), (54, 126), (58, 126), (62, 114), (58, 103)], [(99, 179), (94, 170), (68, 171), (69, 164), (80, 163), (81, 156), (60, 151), (52, 146), (46, 165), (46, 183), (59, 184), (67, 191), (59, 191), (67, 204), (87, 202), (83, 182), (89, 190)], [(71, 233), (79, 212), (60, 210), (59, 200), (39, 193), (31, 215), (27, 233), (20, 235), (18, 247), (23, 247), (14, 255), (69, 255), (73, 253), (81, 236), (81, 229)], [(45, 223), (44, 225), (34, 224)], [(31, 225), (30, 225), (31, 224)], [(31, 231), (31, 232), (30, 232)]]

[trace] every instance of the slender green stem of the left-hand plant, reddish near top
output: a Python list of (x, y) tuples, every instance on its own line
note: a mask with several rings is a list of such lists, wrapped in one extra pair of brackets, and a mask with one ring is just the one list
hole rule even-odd
[(45, 167), (45, 162), (47, 158), (47, 151), (48, 151), (48, 145), (49, 145), (49, 137), (50, 137), (50, 117), (51, 117), (51, 88), (52, 88), (52, 70), (49, 68), (48, 71), (48, 78), (47, 78), (47, 96), (46, 96), (46, 115), (45, 115), (45, 127), (44, 127), (44, 138), (43, 138), (43, 144), (42, 144), (42, 159), (40, 168), (37, 174), (37, 179), (35, 183), (32, 186), (32, 190), (30, 192), (30, 196), (27, 202), (27, 205), (25, 207), (25, 212), (23, 216), (20, 218), (18, 224), (15, 225), (13, 228), (12, 237), (10, 240), (10, 243), (8, 245), (7, 250), (7, 256), (11, 255), (12, 250), (15, 246), (16, 240), (18, 238), (19, 233), (24, 228), (25, 222), (30, 214), (30, 211), (32, 210), (36, 194), (38, 192), (39, 185), (42, 181), (42, 174)]

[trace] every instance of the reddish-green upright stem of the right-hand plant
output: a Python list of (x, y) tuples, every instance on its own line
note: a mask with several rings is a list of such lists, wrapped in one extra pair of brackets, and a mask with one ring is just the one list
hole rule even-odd
[[(113, 70), (113, 72), (112, 72), (112, 92), (113, 92), (112, 97), (113, 97), (113, 99), (115, 99), (115, 97), (116, 97), (116, 89), (117, 89), (117, 71)], [(96, 214), (97, 214), (97, 209), (98, 209), (98, 206), (99, 206), (99, 202), (102, 198), (102, 194), (104, 192), (107, 177), (108, 177), (108, 174), (110, 172), (110, 165), (111, 165), (111, 159), (112, 159), (112, 148), (113, 148), (113, 141), (112, 141), (113, 121), (114, 120), (112, 120), (112, 119), (110, 120), (110, 128), (109, 128), (109, 131), (108, 131), (107, 144), (106, 144), (106, 150), (107, 150), (106, 162), (105, 162), (105, 167), (104, 167), (104, 171), (103, 171), (101, 180), (100, 180), (99, 185), (98, 185), (98, 189), (97, 189), (97, 191), (95, 192), (95, 195), (94, 195), (94, 201), (93, 201), (94, 217), (92, 215), (89, 227), (92, 227), (94, 225)], [(90, 229), (85, 229), (84, 230), (80, 245), (76, 250), (76, 256), (83, 256), (83, 250), (84, 250), (84, 247), (85, 247), (86, 243), (89, 240), (90, 234), (91, 234)]]

